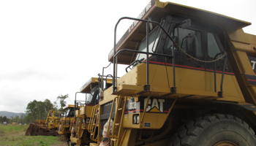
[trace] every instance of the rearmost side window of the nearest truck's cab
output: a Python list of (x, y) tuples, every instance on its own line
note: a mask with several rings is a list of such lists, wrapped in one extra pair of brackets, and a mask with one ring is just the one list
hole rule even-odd
[(219, 46), (214, 37), (214, 34), (207, 34), (207, 54), (210, 58), (214, 58), (217, 53), (220, 53)]

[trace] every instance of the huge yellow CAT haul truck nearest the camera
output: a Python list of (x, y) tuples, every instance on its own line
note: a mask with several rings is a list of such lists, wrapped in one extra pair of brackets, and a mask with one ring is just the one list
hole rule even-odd
[[(121, 20), (132, 25), (116, 43)], [(90, 145), (255, 146), (256, 36), (251, 23), (150, 1), (116, 23), (113, 85)], [(118, 64), (127, 73), (117, 77)]]

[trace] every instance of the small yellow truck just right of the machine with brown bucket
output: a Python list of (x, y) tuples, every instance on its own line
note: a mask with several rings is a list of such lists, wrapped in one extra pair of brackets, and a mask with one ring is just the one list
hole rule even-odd
[(68, 104), (67, 107), (63, 108), (63, 110), (66, 110), (67, 112), (64, 114), (64, 117), (60, 118), (58, 134), (64, 135), (65, 138), (69, 139), (71, 135), (71, 123), (75, 120), (75, 105)]

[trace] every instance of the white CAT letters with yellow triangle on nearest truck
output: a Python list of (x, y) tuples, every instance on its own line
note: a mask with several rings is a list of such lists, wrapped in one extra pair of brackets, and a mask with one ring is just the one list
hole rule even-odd
[[(147, 98), (144, 99), (144, 107), (146, 107)], [(165, 99), (149, 99), (146, 112), (164, 112)]]

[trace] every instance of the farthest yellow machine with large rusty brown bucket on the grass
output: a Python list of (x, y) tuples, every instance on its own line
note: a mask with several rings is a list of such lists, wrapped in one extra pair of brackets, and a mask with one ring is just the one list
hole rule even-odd
[[(35, 120), (26, 130), (26, 136), (56, 136), (59, 127), (59, 118), (55, 117), (56, 111), (49, 110), (46, 120)], [(43, 122), (43, 123), (42, 123)]]

